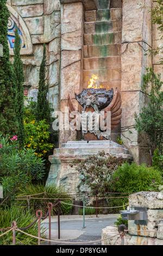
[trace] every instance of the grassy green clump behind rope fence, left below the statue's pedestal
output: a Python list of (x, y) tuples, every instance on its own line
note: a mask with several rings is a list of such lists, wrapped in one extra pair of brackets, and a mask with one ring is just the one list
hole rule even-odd
[[(37, 182), (37, 184), (29, 184), (26, 187), (23, 187), (21, 191), (19, 192), (18, 196), (27, 196), (30, 194), (36, 194), (36, 198), (30, 199), (30, 212), (33, 214), (36, 212), (36, 210), (42, 210), (42, 212), (45, 214), (45, 191), (46, 191), (46, 203), (52, 203), (53, 205), (57, 201), (58, 198), (61, 199), (62, 202), (65, 202), (67, 204), (72, 204), (73, 200), (68, 196), (67, 193), (64, 192), (64, 189), (61, 187), (57, 187), (54, 184), (46, 184), (43, 185), (40, 182)], [(41, 193), (41, 194), (40, 194)], [(51, 199), (52, 198), (52, 199)], [(56, 199), (54, 199), (56, 198)], [(62, 199), (63, 198), (63, 199)], [(64, 199), (67, 198), (67, 199)], [(27, 205), (27, 198), (24, 200), (17, 200), (17, 203), (22, 203), (23, 205)], [(60, 211), (62, 215), (67, 215), (71, 213), (72, 206), (67, 204), (61, 204), (60, 205)], [(47, 208), (46, 208), (47, 211)], [(52, 215), (55, 215), (58, 213), (58, 206), (53, 208)]]

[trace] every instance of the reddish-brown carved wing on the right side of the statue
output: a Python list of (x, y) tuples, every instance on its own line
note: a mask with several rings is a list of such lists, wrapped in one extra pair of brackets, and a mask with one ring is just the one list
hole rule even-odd
[(117, 125), (120, 124), (120, 120), (122, 118), (121, 103), (121, 93), (118, 90), (118, 88), (116, 88), (116, 92), (109, 106), (103, 109), (103, 111), (105, 112), (105, 118), (106, 112), (111, 112), (111, 130), (114, 130), (117, 127)]

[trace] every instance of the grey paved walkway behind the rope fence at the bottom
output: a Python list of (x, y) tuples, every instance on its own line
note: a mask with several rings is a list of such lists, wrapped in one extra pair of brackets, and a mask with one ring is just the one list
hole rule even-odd
[[(86, 215), (84, 228), (82, 215), (60, 216), (60, 242), (52, 242), (52, 245), (101, 245), (101, 241), (84, 242), (101, 240), (102, 229), (109, 225), (115, 225), (114, 222), (118, 216), (117, 214), (98, 215), (98, 217), (96, 215)], [(47, 228), (48, 234), (48, 218), (42, 223), (43, 227)], [(58, 240), (58, 216), (52, 217), (51, 228), (52, 240)], [(67, 244), (62, 241), (70, 243)], [(82, 242), (82, 244), (77, 244), (77, 242)], [(43, 243), (43, 245), (48, 245), (48, 242)]]

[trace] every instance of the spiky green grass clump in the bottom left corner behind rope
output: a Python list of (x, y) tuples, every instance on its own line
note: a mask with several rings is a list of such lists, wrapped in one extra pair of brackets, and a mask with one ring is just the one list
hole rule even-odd
[[(12, 221), (16, 221), (18, 228), (25, 228), (36, 220), (36, 216), (31, 215), (29, 212), (23, 211), (21, 205), (19, 205), (18, 207), (16, 204), (11, 205), (10, 207), (1, 207), (0, 216), (0, 229), (11, 227)], [(34, 223), (31, 227), (23, 231), (28, 233), (29, 235), (38, 236), (37, 223), (38, 222)], [(0, 235), (3, 234), (5, 231), (6, 230), (0, 231)], [(46, 229), (42, 227), (41, 223), (41, 237), (46, 238), (45, 232)], [(23, 234), (19, 231), (16, 231), (16, 245), (37, 245), (37, 243), (37, 239)], [(12, 231), (0, 237), (0, 245), (12, 245)]]

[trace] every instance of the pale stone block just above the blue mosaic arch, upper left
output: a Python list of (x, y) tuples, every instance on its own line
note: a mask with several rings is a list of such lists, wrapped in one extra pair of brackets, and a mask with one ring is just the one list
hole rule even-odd
[(17, 6), (16, 10), (23, 18), (43, 15), (43, 4)]

